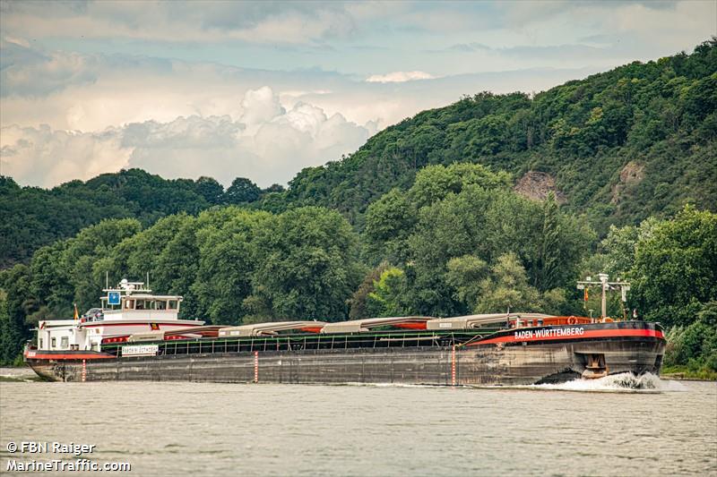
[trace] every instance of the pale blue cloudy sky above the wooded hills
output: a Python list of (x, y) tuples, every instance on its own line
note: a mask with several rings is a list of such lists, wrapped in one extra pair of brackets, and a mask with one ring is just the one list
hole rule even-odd
[(424, 109), (717, 35), (717, 2), (0, 0), (0, 175), (261, 187)]

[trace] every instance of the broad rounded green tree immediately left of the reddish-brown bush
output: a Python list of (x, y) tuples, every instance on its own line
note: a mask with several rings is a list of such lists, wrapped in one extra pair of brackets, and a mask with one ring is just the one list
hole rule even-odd
[(307, 207), (270, 217), (256, 232), (253, 294), (268, 319), (341, 320), (358, 285), (357, 236), (337, 212)]

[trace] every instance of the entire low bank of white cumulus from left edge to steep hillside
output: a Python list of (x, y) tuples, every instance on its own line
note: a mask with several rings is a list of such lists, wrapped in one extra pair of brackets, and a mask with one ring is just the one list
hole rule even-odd
[(358, 149), (375, 129), (304, 102), (287, 109), (269, 87), (246, 91), (241, 107), (238, 120), (191, 115), (102, 132), (6, 126), (0, 134), (2, 174), (50, 187), (141, 167), (165, 177), (212, 175), (225, 184), (248, 176), (266, 186)]

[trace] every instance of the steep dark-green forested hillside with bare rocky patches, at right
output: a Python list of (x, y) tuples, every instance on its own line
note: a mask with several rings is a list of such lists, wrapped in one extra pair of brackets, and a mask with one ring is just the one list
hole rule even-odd
[(290, 203), (340, 210), (363, 224), (367, 206), (406, 190), (421, 167), (471, 162), (518, 181), (549, 174), (568, 209), (609, 224), (667, 217), (687, 202), (717, 209), (717, 40), (647, 64), (535, 95), (479, 93), (424, 111), (357, 152), (291, 181)]

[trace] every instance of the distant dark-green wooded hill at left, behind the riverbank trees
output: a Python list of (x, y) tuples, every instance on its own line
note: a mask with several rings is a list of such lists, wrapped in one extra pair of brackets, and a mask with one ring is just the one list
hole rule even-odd
[(196, 214), (218, 204), (246, 204), (261, 191), (239, 177), (224, 191), (210, 177), (166, 180), (141, 169), (72, 181), (51, 190), (20, 187), (0, 176), (0, 268), (27, 262), (42, 245), (77, 234), (104, 218), (134, 217), (143, 225), (177, 212)]

